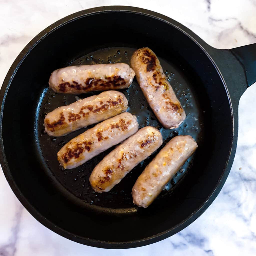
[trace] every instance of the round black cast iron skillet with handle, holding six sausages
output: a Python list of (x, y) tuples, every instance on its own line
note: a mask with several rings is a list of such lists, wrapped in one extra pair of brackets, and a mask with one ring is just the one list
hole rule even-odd
[[(110, 193), (99, 195), (90, 188), (89, 175), (111, 149), (76, 169), (62, 169), (57, 151), (86, 129), (52, 138), (42, 124), (54, 108), (91, 95), (54, 93), (48, 88), (53, 70), (81, 63), (129, 63), (134, 49), (145, 46), (159, 57), (187, 118), (178, 129), (163, 129), (136, 80), (122, 90), (128, 111), (136, 114), (140, 127), (157, 127), (164, 144), (177, 134), (190, 134), (199, 147), (168, 191), (141, 209), (132, 204), (131, 188), (155, 154)], [(229, 174), (237, 145), (238, 101), (256, 80), (255, 60), (255, 44), (215, 49), (176, 21), (145, 9), (109, 6), (67, 16), (24, 48), (1, 88), (0, 160), (6, 179), (38, 221), (73, 241), (131, 248), (172, 236), (206, 210)]]

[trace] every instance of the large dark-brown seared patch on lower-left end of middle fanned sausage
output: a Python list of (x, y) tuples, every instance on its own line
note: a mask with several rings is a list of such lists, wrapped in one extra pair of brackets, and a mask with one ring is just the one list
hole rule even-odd
[(83, 153), (85, 150), (89, 152), (91, 148), (91, 141), (79, 142), (72, 148), (67, 148), (67, 151), (61, 157), (64, 162), (67, 163), (71, 158), (79, 158), (80, 154)]

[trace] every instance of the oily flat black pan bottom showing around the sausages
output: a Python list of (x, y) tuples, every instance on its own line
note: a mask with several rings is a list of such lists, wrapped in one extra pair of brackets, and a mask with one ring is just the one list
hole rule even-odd
[[(90, 52), (87, 55), (69, 63), (72, 66), (116, 62), (124, 62), (129, 64), (130, 58), (135, 50), (135, 48), (129, 47), (105, 48)], [(64, 169), (58, 163), (57, 152), (72, 138), (81, 134), (87, 129), (90, 129), (94, 125), (61, 137), (48, 136), (48, 134), (45, 133), (43, 125), (45, 115), (55, 108), (70, 104), (78, 99), (83, 99), (91, 95), (98, 94), (99, 92), (80, 95), (66, 95), (56, 93), (49, 89), (47, 84), (45, 85), (45, 89), (40, 96), (40, 100), (38, 101), (38, 106), (36, 108), (34, 136), (36, 138), (35, 141), (37, 142), (36, 145), (38, 150), (37, 153), (40, 158), (39, 161), (44, 163), (46, 173), (48, 173), (51, 178), (55, 179), (55, 181), (58, 181), (56, 184), (63, 186), (66, 189), (63, 190), (61, 188), (61, 191), (69, 191), (72, 195), (79, 198), (85, 205), (90, 204), (92, 206), (98, 206), (95, 208), (97, 210), (101, 210), (99, 207), (105, 207), (111, 209), (118, 208), (119, 211), (122, 209), (122, 212), (124, 212), (124, 209), (126, 209), (128, 212), (131, 210), (136, 211), (137, 207), (134, 207), (132, 202), (131, 189), (137, 177), (142, 173), (146, 165), (154, 158), (161, 148), (172, 137), (187, 134), (191, 135), (200, 145), (200, 141), (204, 136), (204, 113), (206, 112), (204, 110), (204, 105), (202, 105), (202, 103), (200, 105), (198, 96), (191, 85), (191, 80), (186, 78), (182, 70), (173, 63), (173, 60), (165, 60), (163, 58), (159, 59), (168, 81), (175, 90), (178, 99), (185, 109), (187, 114), (186, 120), (177, 129), (165, 129), (156, 119), (136, 79), (134, 79), (129, 88), (120, 90), (125, 94), (129, 102), (129, 108), (127, 111), (136, 115), (139, 128), (148, 125), (156, 127), (159, 131), (161, 131), (164, 143), (154, 154), (137, 165), (118, 185), (116, 185), (108, 193), (95, 193), (90, 186), (89, 176), (93, 168), (103, 159), (105, 155), (112, 151), (115, 146), (109, 150), (106, 150), (100, 155), (93, 157), (91, 160), (77, 168)], [(185, 176), (192, 166), (192, 160), (193, 157), (188, 159), (182, 169), (167, 184), (166, 189), (161, 193), (159, 198), (168, 196), (170, 193), (172, 193), (175, 186), (179, 184), (179, 180)], [(66, 194), (69, 196), (69, 193)]]

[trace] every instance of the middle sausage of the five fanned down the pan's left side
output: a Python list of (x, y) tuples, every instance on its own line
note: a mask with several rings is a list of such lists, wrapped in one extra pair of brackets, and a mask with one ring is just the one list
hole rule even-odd
[(58, 161), (65, 169), (75, 168), (138, 131), (134, 115), (124, 112), (107, 119), (64, 145)]

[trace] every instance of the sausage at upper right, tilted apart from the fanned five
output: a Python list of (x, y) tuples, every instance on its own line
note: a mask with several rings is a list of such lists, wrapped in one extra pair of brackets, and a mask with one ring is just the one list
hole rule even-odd
[(177, 128), (186, 114), (154, 52), (147, 47), (136, 50), (131, 58), (131, 67), (159, 122), (166, 129)]

